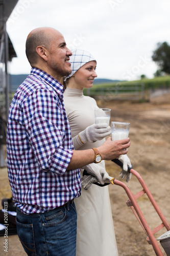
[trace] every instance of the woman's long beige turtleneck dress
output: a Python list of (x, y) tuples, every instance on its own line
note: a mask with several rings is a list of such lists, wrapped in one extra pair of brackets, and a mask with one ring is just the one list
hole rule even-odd
[[(67, 88), (64, 105), (72, 138), (94, 123), (94, 109), (98, 106), (93, 98), (83, 95), (83, 90)], [(87, 142), (78, 150), (98, 147), (104, 141)], [(101, 164), (105, 166), (104, 161)], [(82, 172), (81, 169), (81, 175)], [(78, 215), (76, 256), (117, 256), (108, 186), (92, 184), (88, 190), (82, 188), (75, 204)]]

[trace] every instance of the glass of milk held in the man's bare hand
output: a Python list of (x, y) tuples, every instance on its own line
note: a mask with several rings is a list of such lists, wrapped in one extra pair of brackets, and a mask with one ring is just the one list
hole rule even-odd
[(122, 140), (129, 136), (130, 123), (111, 122), (112, 140)]

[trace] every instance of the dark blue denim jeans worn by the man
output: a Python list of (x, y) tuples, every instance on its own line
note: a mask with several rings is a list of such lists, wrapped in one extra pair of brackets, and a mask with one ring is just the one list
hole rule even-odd
[(43, 214), (22, 214), (17, 208), (19, 240), (29, 256), (75, 256), (77, 211), (75, 203)]

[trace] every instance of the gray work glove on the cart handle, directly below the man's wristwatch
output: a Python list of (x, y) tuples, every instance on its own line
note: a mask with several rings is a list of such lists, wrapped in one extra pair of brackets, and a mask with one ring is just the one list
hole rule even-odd
[(100, 182), (101, 184), (112, 183), (114, 178), (110, 177), (106, 172), (106, 169), (100, 165), (95, 163), (90, 163), (86, 166), (82, 167), (89, 174), (88, 176), (82, 177), (82, 187), (87, 190), (92, 183)]

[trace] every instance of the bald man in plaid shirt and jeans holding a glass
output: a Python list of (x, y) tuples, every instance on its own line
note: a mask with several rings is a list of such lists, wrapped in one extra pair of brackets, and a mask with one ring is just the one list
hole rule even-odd
[(109, 138), (97, 149), (75, 151), (59, 83), (71, 73), (63, 35), (53, 28), (34, 29), (26, 54), (32, 70), (11, 102), (7, 131), (17, 233), (28, 255), (74, 256), (79, 167), (127, 154), (130, 141)]

